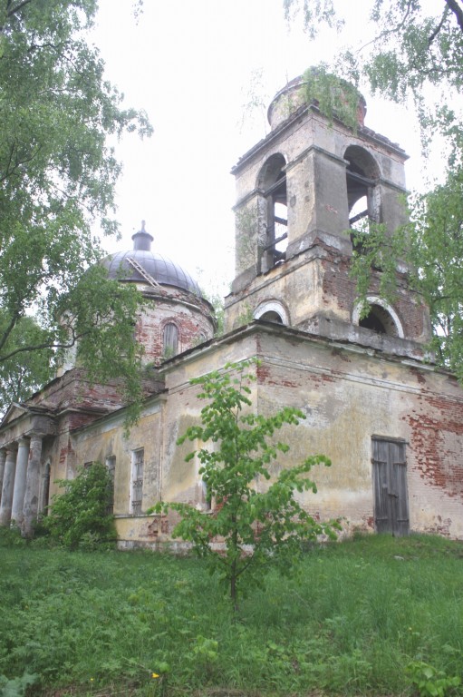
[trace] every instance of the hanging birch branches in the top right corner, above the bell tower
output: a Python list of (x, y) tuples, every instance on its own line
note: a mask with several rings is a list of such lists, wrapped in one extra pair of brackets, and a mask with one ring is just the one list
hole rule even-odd
[[(310, 38), (323, 24), (338, 30), (346, 24), (343, 3), (336, 0), (285, 0), (284, 5), (287, 19), (302, 11)], [(354, 83), (365, 75), (373, 93), (397, 102), (411, 95), (421, 105), (427, 84), (461, 88), (463, 8), (458, 2), (371, 0), (369, 15), (377, 29), (374, 38), (366, 43), (362, 35), (360, 47), (343, 51), (336, 73)]]

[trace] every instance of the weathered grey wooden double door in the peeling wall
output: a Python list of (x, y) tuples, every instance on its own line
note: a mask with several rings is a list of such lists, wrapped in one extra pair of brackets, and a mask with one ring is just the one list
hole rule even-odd
[(408, 535), (410, 529), (405, 443), (373, 437), (374, 523), (378, 533)]

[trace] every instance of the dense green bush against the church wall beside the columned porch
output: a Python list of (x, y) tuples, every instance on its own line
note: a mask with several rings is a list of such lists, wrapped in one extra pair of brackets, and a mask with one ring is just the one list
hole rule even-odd
[(44, 527), (68, 549), (95, 549), (115, 540), (112, 480), (100, 463), (82, 468), (74, 479), (59, 480), (63, 494), (53, 496)]

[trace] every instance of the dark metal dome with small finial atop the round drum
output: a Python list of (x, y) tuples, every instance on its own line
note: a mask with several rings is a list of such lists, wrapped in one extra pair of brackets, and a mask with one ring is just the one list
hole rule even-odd
[(189, 275), (188, 271), (178, 266), (175, 261), (151, 251), (153, 238), (149, 232), (145, 231), (145, 221), (141, 223), (141, 230), (132, 235), (132, 240), (133, 250), (118, 251), (101, 261), (108, 270), (110, 279), (139, 282), (150, 282), (152, 279), (160, 285), (188, 290), (202, 298), (197, 281)]

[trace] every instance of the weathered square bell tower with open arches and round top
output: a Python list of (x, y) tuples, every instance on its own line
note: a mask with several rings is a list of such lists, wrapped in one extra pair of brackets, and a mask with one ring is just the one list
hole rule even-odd
[(232, 170), (236, 278), (227, 329), (263, 319), (375, 348), (386, 341), (390, 349), (390, 338), (401, 344), (393, 352), (414, 356), (429, 340), (428, 310), (408, 287), (404, 260), (397, 262), (394, 307), (381, 298), (381, 270), (371, 270), (371, 313), (359, 319), (349, 273), (352, 228), (364, 220), (393, 231), (407, 221), (407, 155), (367, 128), (365, 114), (359, 94), (356, 128), (336, 114), (327, 118), (307, 98), (304, 77), (275, 95), (270, 133)]

